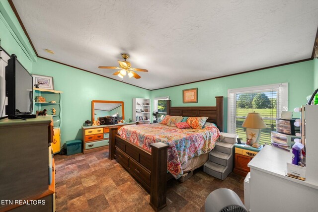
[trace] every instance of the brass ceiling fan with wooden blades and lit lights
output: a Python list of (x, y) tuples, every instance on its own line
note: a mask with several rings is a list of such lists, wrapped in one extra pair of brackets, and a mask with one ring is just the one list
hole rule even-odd
[(121, 56), (124, 58), (125, 61), (117, 61), (119, 63), (120, 67), (111, 67), (111, 66), (99, 66), (99, 69), (118, 69), (119, 71), (116, 71), (113, 73), (113, 75), (117, 75), (120, 78), (124, 78), (124, 76), (128, 73), (129, 78), (135, 77), (136, 79), (139, 79), (141, 76), (138, 75), (135, 71), (144, 71), (148, 72), (146, 69), (135, 69), (131, 68), (131, 65), (128, 61), (126, 61), (129, 56), (127, 54), (121, 54)]

